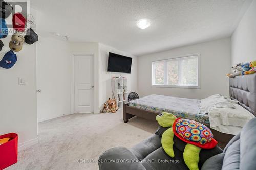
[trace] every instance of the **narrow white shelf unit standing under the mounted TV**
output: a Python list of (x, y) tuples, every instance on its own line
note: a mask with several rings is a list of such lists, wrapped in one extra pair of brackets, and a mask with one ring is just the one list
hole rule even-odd
[(112, 89), (119, 109), (123, 108), (123, 103), (128, 101), (128, 79), (112, 78)]

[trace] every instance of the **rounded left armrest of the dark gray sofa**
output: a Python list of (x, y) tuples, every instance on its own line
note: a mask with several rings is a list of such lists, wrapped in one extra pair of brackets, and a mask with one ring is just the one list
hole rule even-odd
[(124, 147), (115, 147), (105, 151), (100, 155), (98, 164), (99, 170), (145, 170), (144, 166), (133, 155), (133, 153)]

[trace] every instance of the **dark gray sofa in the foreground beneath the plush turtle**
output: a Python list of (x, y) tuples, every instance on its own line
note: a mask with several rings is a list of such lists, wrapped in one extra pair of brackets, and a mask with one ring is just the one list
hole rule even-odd
[[(185, 142), (174, 138), (175, 157), (169, 157), (161, 147), (161, 135), (167, 128), (159, 127), (154, 135), (131, 149), (115, 147), (99, 157), (100, 170), (188, 169), (183, 160)], [(240, 134), (234, 136), (225, 149), (219, 147), (200, 152), (200, 169), (256, 169), (256, 118), (248, 122)]]

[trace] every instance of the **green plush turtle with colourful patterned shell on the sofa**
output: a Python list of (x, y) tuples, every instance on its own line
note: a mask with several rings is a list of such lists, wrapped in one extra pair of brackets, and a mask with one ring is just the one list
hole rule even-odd
[(161, 139), (164, 151), (174, 157), (174, 135), (186, 142), (183, 159), (190, 170), (198, 170), (199, 153), (201, 149), (212, 149), (217, 145), (211, 130), (194, 120), (177, 118), (172, 113), (163, 112), (156, 117), (157, 122), (167, 129)]

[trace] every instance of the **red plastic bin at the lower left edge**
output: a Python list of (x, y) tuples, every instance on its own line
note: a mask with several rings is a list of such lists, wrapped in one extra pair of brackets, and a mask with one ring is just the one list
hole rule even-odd
[(18, 134), (8, 133), (1, 135), (0, 139), (6, 137), (10, 138), (9, 141), (0, 145), (0, 170), (18, 161)]

